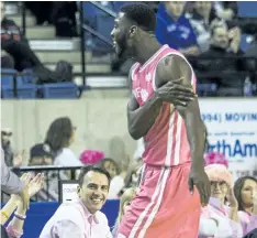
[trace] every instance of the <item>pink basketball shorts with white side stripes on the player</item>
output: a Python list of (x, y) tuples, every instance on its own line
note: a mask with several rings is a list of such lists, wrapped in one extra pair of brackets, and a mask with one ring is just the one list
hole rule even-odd
[(200, 196), (190, 194), (191, 163), (172, 167), (146, 165), (136, 197), (122, 219), (116, 238), (197, 238)]

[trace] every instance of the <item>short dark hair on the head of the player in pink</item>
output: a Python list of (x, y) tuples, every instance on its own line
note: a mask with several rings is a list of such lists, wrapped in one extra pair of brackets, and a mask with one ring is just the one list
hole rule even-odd
[(131, 3), (121, 8), (126, 18), (134, 21), (142, 30), (155, 32), (156, 17), (154, 10), (145, 3)]

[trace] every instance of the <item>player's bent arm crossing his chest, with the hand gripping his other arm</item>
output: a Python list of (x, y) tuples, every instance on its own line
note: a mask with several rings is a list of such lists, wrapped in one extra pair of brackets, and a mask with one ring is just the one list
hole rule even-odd
[[(170, 100), (175, 105), (187, 106), (194, 97), (190, 87), (179, 85), (181, 79), (170, 82), (166, 88), (169, 91)], [(128, 76), (128, 85), (131, 87), (131, 73)], [(131, 137), (135, 140), (144, 137), (152, 126), (155, 123), (163, 106), (164, 99), (155, 95), (150, 97), (143, 107), (139, 107), (135, 96), (131, 95), (127, 104), (127, 126)]]

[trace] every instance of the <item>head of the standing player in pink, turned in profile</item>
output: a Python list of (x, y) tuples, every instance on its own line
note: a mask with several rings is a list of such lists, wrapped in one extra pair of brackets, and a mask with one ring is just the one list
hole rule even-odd
[(135, 46), (144, 41), (147, 34), (155, 33), (156, 17), (150, 7), (145, 3), (124, 6), (111, 32), (113, 47), (119, 57), (133, 57)]

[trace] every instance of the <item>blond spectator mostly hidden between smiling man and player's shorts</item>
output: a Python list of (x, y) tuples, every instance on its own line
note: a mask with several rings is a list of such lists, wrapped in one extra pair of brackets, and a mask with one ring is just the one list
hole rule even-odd
[(120, 201), (120, 209), (119, 209), (119, 215), (116, 218), (116, 223), (112, 229), (112, 235), (113, 237), (116, 237), (116, 232), (119, 230), (119, 226), (121, 224), (121, 220), (123, 218), (123, 216), (125, 215), (125, 213), (127, 212), (127, 209), (131, 206), (131, 202), (133, 201), (133, 198), (136, 195), (136, 188), (135, 187), (130, 187), (126, 188), (124, 191), (124, 193), (121, 196), (121, 201)]

